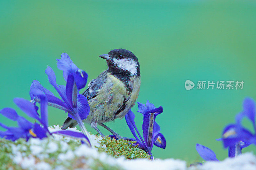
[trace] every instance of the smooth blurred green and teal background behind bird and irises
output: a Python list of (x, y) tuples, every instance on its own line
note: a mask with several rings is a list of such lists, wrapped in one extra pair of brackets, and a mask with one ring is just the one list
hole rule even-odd
[[(138, 101), (162, 106), (157, 123), (167, 140), (154, 147), (155, 158), (202, 161), (195, 145), (211, 148), (218, 159), (228, 156), (220, 138), (234, 122), (244, 97), (256, 99), (255, 1), (1, 1), (0, 108), (14, 107), (14, 97), (29, 98), (37, 79), (55, 92), (44, 73), (47, 65), (65, 84), (56, 58), (67, 52), (89, 80), (107, 69), (98, 55), (115, 48), (139, 59)], [(185, 90), (187, 79), (243, 80), (243, 90)], [(86, 85), (87, 86), (87, 85)], [(55, 92), (57, 95), (57, 93)], [(142, 116), (132, 108), (137, 127)], [(20, 115), (27, 117), (20, 110)], [(49, 108), (49, 124), (62, 124), (66, 114)], [(0, 116), (1, 122), (15, 122)], [(251, 128), (248, 121), (245, 124)], [(132, 137), (125, 119), (107, 123), (121, 136)], [(89, 131), (96, 133), (89, 125)], [(106, 135), (106, 130), (100, 127)], [(245, 151), (254, 151), (250, 146)]]

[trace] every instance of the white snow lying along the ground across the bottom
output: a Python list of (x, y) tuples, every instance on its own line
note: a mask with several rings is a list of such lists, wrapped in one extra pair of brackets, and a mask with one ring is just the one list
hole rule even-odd
[[(60, 130), (59, 126), (50, 127), (51, 132)], [(78, 131), (76, 128), (69, 130)], [(95, 145), (99, 146), (98, 141), (101, 137), (96, 137), (90, 135), (92, 141)], [(57, 154), (56, 167), (55, 170), (63, 170), (66, 165), (70, 165), (68, 162), (74, 158), (81, 158), (81, 162), (87, 165), (93, 165), (94, 161), (100, 160), (102, 163), (109, 166), (122, 167), (123, 169), (133, 169), (133, 170), (148, 170), (148, 169), (162, 169), (162, 170), (255, 170), (256, 169), (256, 157), (251, 152), (243, 153), (237, 158), (227, 158), (223, 161), (209, 161), (205, 162), (202, 166), (187, 167), (186, 161), (178, 159), (155, 159), (151, 161), (148, 159), (125, 159), (123, 156), (119, 158), (114, 158), (107, 155), (105, 152), (99, 153), (97, 149), (89, 148), (85, 144), (80, 144), (76, 148), (71, 148), (67, 142), (72, 140), (72, 142), (80, 141), (71, 138), (63, 137), (61, 135), (54, 134), (54, 137), (50, 136), (43, 140), (31, 138), (29, 139), (26, 146), (18, 144), (10, 144), (12, 149), (12, 160), (14, 163), (19, 164), (23, 169), (31, 170), (50, 170), (51, 165), (44, 161), (45, 158), (49, 158), (49, 153)], [(27, 149), (31, 150), (31, 155), (26, 155)], [(46, 148), (46, 149), (44, 149)], [(40, 161), (38, 161), (40, 160)]]

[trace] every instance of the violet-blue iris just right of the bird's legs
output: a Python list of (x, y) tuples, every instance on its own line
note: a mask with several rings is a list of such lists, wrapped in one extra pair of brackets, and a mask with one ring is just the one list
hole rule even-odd
[[(153, 144), (163, 149), (166, 147), (166, 140), (164, 135), (160, 133), (160, 126), (156, 123), (156, 116), (160, 113), (163, 113), (163, 107), (160, 106), (156, 108), (147, 100), (146, 106), (138, 102), (138, 108), (138, 112), (140, 112), (143, 116), (143, 139), (135, 125), (134, 114), (130, 110), (127, 115), (125, 115), (125, 120), (135, 139), (129, 138), (129, 140), (137, 141), (135, 144), (138, 144), (139, 148), (143, 149), (145, 152), (151, 155), (150, 158), (153, 160), (154, 157), (151, 152)], [(135, 130), (139, 137), (136, 135)]]

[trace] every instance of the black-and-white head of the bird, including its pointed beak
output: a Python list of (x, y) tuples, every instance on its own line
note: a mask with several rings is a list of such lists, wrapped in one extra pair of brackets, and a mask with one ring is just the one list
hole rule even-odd
[(107, 60), (108, 70), (118, 74), (140, 76), (140, 64), (137, 57), (126, 49), (113, 49), (108, 54), (100, 55)]

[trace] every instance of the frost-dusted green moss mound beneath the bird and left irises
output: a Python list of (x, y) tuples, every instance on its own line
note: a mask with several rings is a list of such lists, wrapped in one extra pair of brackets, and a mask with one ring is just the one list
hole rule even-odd
[[(59, 126), (49, 128), (51, 132)], [(69, 130), (77, 131), (76, 128)], [(150, 156), (129, 144), (131, 141), (91, 135), (97, 149), (75, 138), (54, 134), (40, 140), (30, 138), (15, 142), (0, 138), (0, 169), (123, 169), (115, 162)], [(125, 157), (125, 158), (124, 158)], [(117, 160), (118, 159), (118, 160)]]

